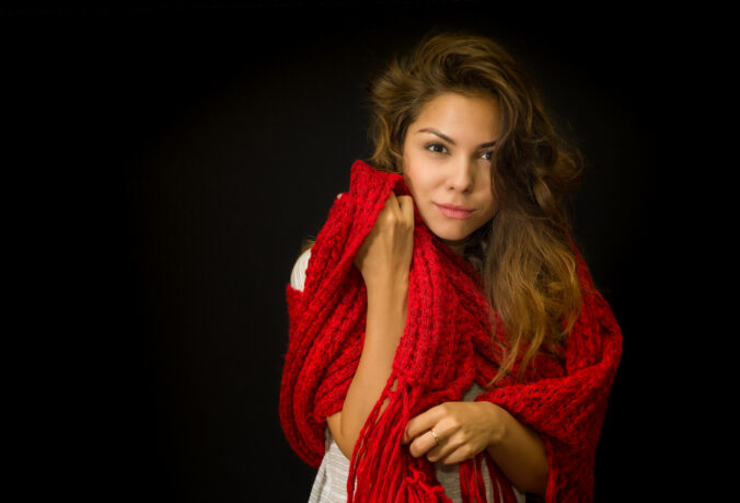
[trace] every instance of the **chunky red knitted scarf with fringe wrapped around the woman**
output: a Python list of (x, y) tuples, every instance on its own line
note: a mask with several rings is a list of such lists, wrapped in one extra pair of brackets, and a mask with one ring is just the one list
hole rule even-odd
[[(287, 287), (280, 421), (292, 448), (313, 467), (324, 456), (326, 418), (342, 410), (362, 351), (367, 291), (352, 262), (392, 191), (408, 194), (400, 174), (356, 161), (349, 193), (335, 201), (311, 250), (304, 289)], [(476, 398), (502, 407), (540, 434), (550, 462), (547, 502), (592, 500), (596, 447), (622, 353), (611, 309), (577, 258), (583, 304), (563, 358), (540, 355), (524, 379), (505, 378)], [(461, 401), (474, 381), (485, 388), (496, 374), (500, 355), (494, 350), (482, 285), (479, 274), (432, 235), (415, 210), (406, 327), (391, 376), (352, 453), (349, 502), (451, 501), (435, 466), (414, 458), (401, 438), (408, 420), (439, 403)], [(496, 312), (494, 317), (498, 321)], [(506, 344), (500, 322), (493, 336)], [(459, 465), (463, 501), (486, 501), (484, 461), (504, 501), (514, 501), (510, 482), (485, 449)]]

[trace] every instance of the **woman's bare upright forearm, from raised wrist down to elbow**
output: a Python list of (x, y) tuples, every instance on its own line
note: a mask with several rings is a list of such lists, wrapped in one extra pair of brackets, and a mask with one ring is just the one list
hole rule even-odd
[[(391, 375), (395, 351), (406, 324), (407, 294), (407, 282), (368, 289), (362, 354), (342, 412), (328, 422), (332, 435), (347, 458), (351, 458), (360, 431)], [(381, 413), (385, 405), (383, 403)]]

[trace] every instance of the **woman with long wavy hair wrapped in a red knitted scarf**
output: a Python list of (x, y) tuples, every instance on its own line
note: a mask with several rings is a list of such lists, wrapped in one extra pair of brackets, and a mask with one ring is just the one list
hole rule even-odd
[(372, 168), (287, 290), (311, 501), (589, 501), (622, 339), (563, 208), (578, 153), (483, 37), (427, 37), (371, 102)]

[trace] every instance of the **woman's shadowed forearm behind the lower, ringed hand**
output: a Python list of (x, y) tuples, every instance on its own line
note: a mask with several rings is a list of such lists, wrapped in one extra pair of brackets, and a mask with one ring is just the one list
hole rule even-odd
[(502, 426), (488, 444), (488, 454), (519, 491), (544, 498), (548, 464), (542, 439), (505, 409), (488, 404), (496, 408), (494, 413)]

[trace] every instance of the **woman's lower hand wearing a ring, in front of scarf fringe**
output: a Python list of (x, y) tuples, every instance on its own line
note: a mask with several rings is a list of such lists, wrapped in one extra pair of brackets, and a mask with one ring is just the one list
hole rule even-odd
[[(402, 439), (412, 456), (446, 465), (464, 461), (504, 436), (498, 405), (490, 402), (444, 402), (408, 421)], [(437, 435), (439, 443), (435, 436)]]

